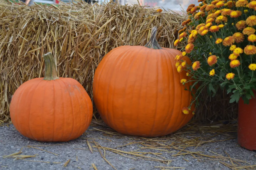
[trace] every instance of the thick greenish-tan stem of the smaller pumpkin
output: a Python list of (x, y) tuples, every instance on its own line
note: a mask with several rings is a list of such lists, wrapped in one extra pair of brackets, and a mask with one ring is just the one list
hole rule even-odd
[(45, 77), (43, 80), (56, 80), (59, 79), (57, 76), (57, 69), (55, 60), (52, 54), (49, 52), (43, 55), (45, 59)]

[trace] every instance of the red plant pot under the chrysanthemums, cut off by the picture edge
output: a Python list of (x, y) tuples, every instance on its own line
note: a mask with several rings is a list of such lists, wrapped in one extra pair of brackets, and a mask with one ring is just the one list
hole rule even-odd
[(248, 150), (256, 150), (256, 98), (244, 104), (238, 103), (238, 144)]

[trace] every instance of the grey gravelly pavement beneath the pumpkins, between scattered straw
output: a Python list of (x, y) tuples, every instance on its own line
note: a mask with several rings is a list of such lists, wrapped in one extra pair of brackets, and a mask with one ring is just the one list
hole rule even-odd
[[(100, 146), (108, 147), (108, 148), (115, 148), (117, 146), (125, 145), (132, 141), (141, 141), (142, 138), (131, 137), (131, 136), (115, 136), (115, 135), (108, 135), (104, 132), (93, 130), (93, 128), (102, 128), (101, 126), (95, 127), (90, 126), (86, 133), (82, 135), (80, 138), (69, 141), (69, 142), (37, 142), (31, 139), (28, 139), (22, 136), (13, 125), (2, 126), (0, 127), (0, 169), (33, 169), (33, 170), (41, 170), (41, 169), (48, 169), (48, 170), (59, 170), (59, 169), (98, 169), (98, 170), (107, 170), (107, 169), (114, 169), (108, 164), (100, 155), (97, 148), (93, 146), (93, 140), (96, 141)], [(198, 136), (201, 135), (198, 132), (194, 133)], [(204, 134), (204, 135), (211, 135), (212, 134)], [(232, 136), (236, 136), (236, 133), (232, 133)], [(170, 135), (171, 136), (171, 135)], [(94, 150), (93, 153), (90, 152), (89, 147), (87, 145), (86, 139), (90, 142), (92, 149)], [(227, 135), (216, 135), (216, 140), (227, 139)], [(200, 139), (199, 139), (200, 140)], [(166, 143), (172, 143), (173, 141), (166, 141)], [(62, 144), (62, 145), (60, 145)], [(53, 146), (35, 146), (39, 149), (35, 148), (28, 148), (28, 145), (53, 145)], [(32, 158), (26, 158), (23, 160), (14, 160), (12, 157), (3, 158), (3, 155), (9, 155), (22, 149), (20, 155), (35, 155)], [(122, 151), (134, 151), (139, 149), (142, 145), (132, 144), (129, 146), (119, 147), (117, 149)], [(76, 149), (80, 148), (80, 149)], [(81, 150), (82, 149), (82, 150)], [(201, 146), (195, 147), (188, 147), (186, 150), (191, 152), (198, 152), (202, 151), (202, 154), (205, 155), (222, 155), (228, 156), (225, 151), (230, 155), (231, 158), (243, 160), (245, 162), (239, 162), (241, 165), (255, 165), (256, 164), (256, 152), (249, 151), (244, 148), (241, 148), (237, 144), (237, 139), (231, 139), (226, 141), (219, 141), (219, 142), (209, 142), (202, 144)], [(52, 153), (49, 153), (50, 151)], [(125, 156), (131, 156), (136, 158), (136, 160), (125, 157), (123, 155), (110, 152), (106, 150), (105, 158), (108, 160), (116, 169), (124, 169), (124, 170), (153, 170), (153, 169), (170, 169), (170, 168), (159, 168), (156, 166), (162, 167), (183, 167), (185, 169), (230, 169), (227, 166), (223, 165), (220, 162), (227, 163), (232, 165), (230, 161), (221, 161), (221, 160), (210, 160), (205, 156), (194, 155), (193, 157), (191, 154), (186, 155), (179, 155), (179, 156), (171, 156), (172, 154), (176, 154), (177, 150), (170, 150), (170, 152), (161, 151), (161, 150), (153, 150), (153, 149), (143, 149), (140, 152), (154, 152), (154, 153), (162, 153), (160, 156), (166, 158), (167, 160), (172, 160), (167, 163), (161, 163), (157, 161), (145, 159), (138, 159), (138, 157), (134, 157), (134, 155), (124, 154)], [(102, 154), (104, 151), (101, 150)], [(139, 152), (139, 151), (138, 151)], [(214, 153), (213, 153), (214, 152)], [(55, 155), (55, 154), (58, 155)], [(182, 152), (184, 153), (184, 152)], [(160, 156), (155, 156), (153, 154), (145, 154), (145, 156), (149, 156), (152, 158), (159, 158), (162, 159)], [(146, 160), (147, 159), (147, 160)], [(234, 160), (233, 159), (233, 160)], [(27, 161), (26, 161), (27, 160)], [(30, 161), (28, 161), (30, 160)], [(66, 167), (63, 167), (63, 164), (70, 160)], [(236, 161), (236, 160), (234, 160)], [(92, 166), (95, 165), (95, 167)], [(236, 163), (234, 163), (236, 164)], [(236, 166), (240, 166), (236, 164)], [(256, 168), (256, 167), (255, 167)], [(177, 168), (176, 168), (177, 169)]]

